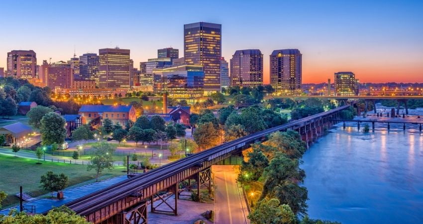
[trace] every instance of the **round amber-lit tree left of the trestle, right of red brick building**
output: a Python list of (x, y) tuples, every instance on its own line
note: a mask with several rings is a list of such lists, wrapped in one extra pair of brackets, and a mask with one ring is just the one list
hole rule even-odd
[(217, 145), (220, 141), (219, 132), (212, 122), (202, 123), (193, 133), (194, 140), (201, 149)]

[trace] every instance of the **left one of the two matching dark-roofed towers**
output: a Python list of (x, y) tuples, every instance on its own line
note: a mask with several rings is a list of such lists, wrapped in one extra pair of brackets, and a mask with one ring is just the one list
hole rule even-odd
[(258, 49), (237, 50), (230, 59), (232, 86), (257, 87), (263, 85), (263, 54)]

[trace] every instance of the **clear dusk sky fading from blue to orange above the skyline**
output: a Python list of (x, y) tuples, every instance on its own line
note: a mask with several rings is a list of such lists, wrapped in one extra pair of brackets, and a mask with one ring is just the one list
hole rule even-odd
[(222, 56), (298, 48), (303, 83), (339, 71), (365, 82), (423, 83), (423, 0), (19, 0), (1, 3), (0, 67), (10, 50), (32, 49), (37, 63), (66, 61), (100, 48), (131, 50), (134, 67), (173, 47), (183, 56), (183, 27), (222, 24)]

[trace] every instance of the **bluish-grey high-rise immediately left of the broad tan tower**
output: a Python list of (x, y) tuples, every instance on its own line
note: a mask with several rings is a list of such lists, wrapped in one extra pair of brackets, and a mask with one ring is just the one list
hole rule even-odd
[(80, 77), (83, 79), (91, 79), (96, 81), (96, 86), (99, 86), (99, 56), (94, 53), (87, 53), (79, 56), (80, 61)]

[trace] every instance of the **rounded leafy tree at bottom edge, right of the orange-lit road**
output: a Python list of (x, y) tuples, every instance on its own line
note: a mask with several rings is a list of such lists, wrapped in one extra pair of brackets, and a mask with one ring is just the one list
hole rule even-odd
[(261, 200), (248, 215), (252, 224), (297, 224), (297, 217), (288, 205), (276, 198)]

